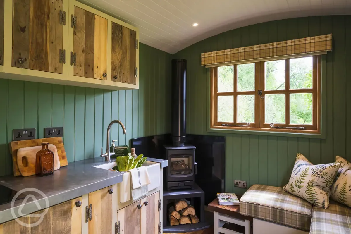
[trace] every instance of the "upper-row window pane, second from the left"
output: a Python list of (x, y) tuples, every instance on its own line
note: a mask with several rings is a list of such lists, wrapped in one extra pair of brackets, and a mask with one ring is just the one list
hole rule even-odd
[(254, 91), (255, 90), (255, 64), (237, 65), (238, 87), (237, 91)]

